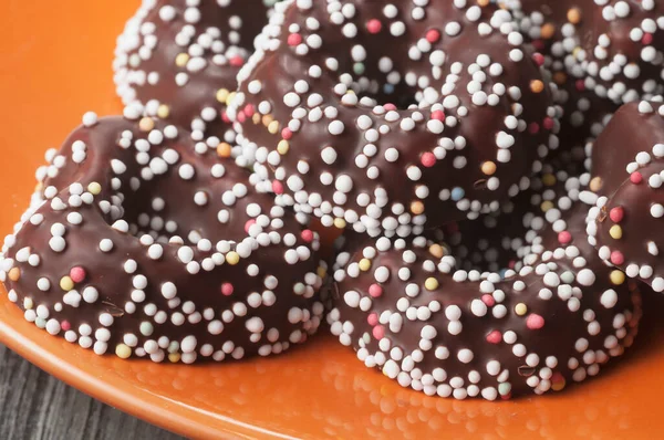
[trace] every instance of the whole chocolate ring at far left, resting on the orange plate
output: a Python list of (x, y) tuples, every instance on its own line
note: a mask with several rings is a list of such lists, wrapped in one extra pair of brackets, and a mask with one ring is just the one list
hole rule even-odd
[(97, 354), (222, 360), (319, 327), (319, 237), (249, 172), (151, 117), (86, 114), (4, 239), (0, 281), (25, 319)]

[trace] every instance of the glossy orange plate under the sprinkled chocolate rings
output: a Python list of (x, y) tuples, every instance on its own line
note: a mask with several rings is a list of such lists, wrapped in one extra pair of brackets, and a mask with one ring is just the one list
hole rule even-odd
[[(59, 146), (85, 111), (120, 112), (112, 51), (137, 3), (3, 0), (2, 234), (28, 205), (43, 151)], [(664, 307), (658, 303), (646, 311)], [(328, 336), (283, 356), (226, 365), (98, 357), (28, 324), (0, 292), (0, 339), (9, 347), (91, 396), (189, 437), (661, 438), (663, 326), (647, 325), (624, 363), (583, 387), (492, 404), (402, 389)]]

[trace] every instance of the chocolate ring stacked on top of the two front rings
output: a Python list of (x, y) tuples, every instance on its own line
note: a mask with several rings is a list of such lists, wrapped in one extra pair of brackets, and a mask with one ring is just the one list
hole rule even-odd
[(510, 20), (466, 0), (278, 3), (229, 106), (264, 190), (372, 235), (497, 210), (558, 128)]

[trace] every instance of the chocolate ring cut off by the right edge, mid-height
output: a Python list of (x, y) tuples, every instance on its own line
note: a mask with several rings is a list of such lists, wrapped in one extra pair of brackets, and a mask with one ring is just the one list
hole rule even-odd
[(593, 149), (590, 242), (608, 263), (664, 292), (664, 105), (623, 105)]

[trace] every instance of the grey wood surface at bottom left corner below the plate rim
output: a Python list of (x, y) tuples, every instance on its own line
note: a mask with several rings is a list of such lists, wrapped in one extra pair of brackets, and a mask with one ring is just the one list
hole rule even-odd
[(49, 376), (0, 345), (0, 439), (179, 439)]

